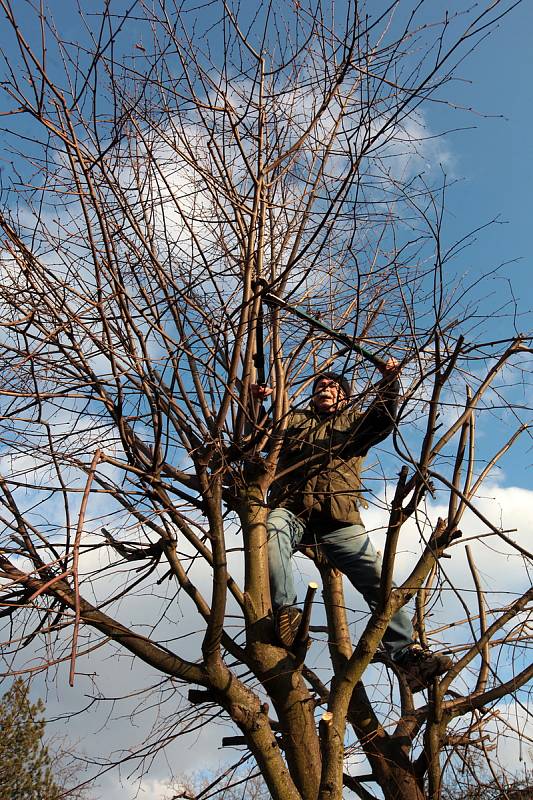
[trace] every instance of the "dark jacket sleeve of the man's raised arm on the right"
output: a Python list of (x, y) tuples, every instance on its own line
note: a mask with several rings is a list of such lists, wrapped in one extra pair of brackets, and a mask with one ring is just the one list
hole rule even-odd
[(350, 442), (344, 451), (348, 451), (350, 456), (365, 456), (371, 447), (386, 439), (394, 428), (400, 382), (398, 379), (384, 379), (375, 388), (375, 399), (352, 429)]

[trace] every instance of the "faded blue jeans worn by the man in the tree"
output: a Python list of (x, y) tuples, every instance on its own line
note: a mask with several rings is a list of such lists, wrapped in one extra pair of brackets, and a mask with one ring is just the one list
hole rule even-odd
[[(381, 557), (363, 525), (349, 525), (322, 532), (306, 525), (286, 508), (275, 508), (268, 515), (268, 564), (274, 608), (294, 605), (296, 592), (292, 575), (292, 554), (305, 533), (317, 538), (329, 563), (342, 572), (360, 592), (373, 611), (379, 601)], [(383, 634), (383, 645), (395, 658), (413, 643), (413, 626), (408, 613), (400, 608)]]

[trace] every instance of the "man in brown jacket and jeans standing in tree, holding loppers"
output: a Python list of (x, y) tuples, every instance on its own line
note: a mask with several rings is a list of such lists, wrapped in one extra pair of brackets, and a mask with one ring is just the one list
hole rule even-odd
[[(302, 612), (296, 605), (291, 557), (299, 545), (318, 546), (328, 561), (363, 595), (371, 610), (380, 597), (381, 558), (367, 535), (359, 507), (361, 470), (369, 449), (392, 431), (399, 391), (399, 363), (381, 368), (376, 397), (361, 413), (350, 404), (343, 375), (319, 374), (307, 409), (293, 411), (283, 436), (268, 516), (268, 557), (274, 624), (285, 647), (294, 644)], [(252, 386), (262, 399), (269, 387)], [(413, 641), (413, 627), (399, 609), (383, 635), (383, 646), (404, 671), (413, 691), (451, 666), (447, 656)]]

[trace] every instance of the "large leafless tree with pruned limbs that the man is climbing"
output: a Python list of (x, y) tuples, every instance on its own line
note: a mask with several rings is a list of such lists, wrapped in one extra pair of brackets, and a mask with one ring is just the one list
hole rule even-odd
[[(479, 501), (527, 431), (528, 341), (513, 308), (487, 334), (477, 282), (453, 280), (468, 237), (446, 242), (445, 175), (417, 166), (423, 104), (445, 102), (513, 4), (435, 20), (423, 2), (138, 0), (76, 12), (76, 41), (43, 5), (0, 5), (6, 669), (41, 643), (37, 668), (70, 661), (74, 683), (95, 648), (128, 651), (165, 695), (145, 758), (217, 710), (274, 798), (438, 798), (450, 754), (482, 751), (532, 674), (529, 553)], [(354, 637), (319, 559), (327, 624), (315, 604), (316, 646), (290, 653), (272, 628), (265, 498), (317, 371), (357, 366), (365, 402), (360, 342), (404, 376), (394, 452), (365, 481), (387, 532), (381, 603)], [(274, 389), (268, 424), (253, 382)], [(474, 606), (442, 562), (465, 519)], [(409, 530), (421, 547), (393, 588)], [(487, 537), (523, 566), (503, 600), (476, 569)], [(455, 665), (417, 705), (379, 643), (413, 598), (427, 642), (443, 592)], [(159, 605), (148, 626), (139, 595)]]

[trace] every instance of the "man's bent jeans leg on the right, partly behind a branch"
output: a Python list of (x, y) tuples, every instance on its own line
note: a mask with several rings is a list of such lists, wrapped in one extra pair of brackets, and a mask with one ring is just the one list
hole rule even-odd
[[(373, 611), (379, 601), (382, 562), (364, 526), (350, 525), (321, 534), (320, 544), (328, 561), (346, 575)], [(400, 608), (383, 634), (383, 645), (395, 659), (412, 644), (413, 626), (407, 611)]]

